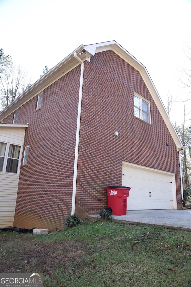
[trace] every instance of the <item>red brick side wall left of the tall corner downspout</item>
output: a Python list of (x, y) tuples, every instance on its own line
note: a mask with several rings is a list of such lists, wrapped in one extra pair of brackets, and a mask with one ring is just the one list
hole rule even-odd
[(19, 108), (17, 123), (29, 123), (29, 153), (26, 165), (22, 156), (14, 226), (55, 230), (71, 214), (80, 68), (43, 91), (41, 109), (37, 96)]

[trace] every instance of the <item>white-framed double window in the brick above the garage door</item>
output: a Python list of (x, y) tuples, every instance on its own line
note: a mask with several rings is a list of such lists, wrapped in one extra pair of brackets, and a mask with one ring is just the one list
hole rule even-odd
[(150, 123), (150, 103), (138, 94), (134, 94), (134, 115)]

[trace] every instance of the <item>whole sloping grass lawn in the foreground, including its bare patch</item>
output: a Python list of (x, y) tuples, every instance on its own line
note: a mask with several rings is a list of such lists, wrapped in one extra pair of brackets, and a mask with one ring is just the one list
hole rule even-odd
[(50, 287), (191, 286), (191, 233), (100, 221), (52, 235), (0, 233), (0, 272)]

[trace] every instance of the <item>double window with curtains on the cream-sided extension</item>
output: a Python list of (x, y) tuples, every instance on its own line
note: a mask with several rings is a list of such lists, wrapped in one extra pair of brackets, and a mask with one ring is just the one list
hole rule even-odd
[(0, 172), (17, 173), (21, 146), (0, 142)]

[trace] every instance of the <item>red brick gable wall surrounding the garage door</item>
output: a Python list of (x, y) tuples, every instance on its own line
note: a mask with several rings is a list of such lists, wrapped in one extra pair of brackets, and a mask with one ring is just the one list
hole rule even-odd
[[(134, 116), (134, 92), (151, 102), (151, 125)], [(175, 173), (180, 207), (174, 141), (140, 73), (105, 51), (84, 68), (76, 214), (83, 217), (107, 207), (104, 187), (122, 184), (122, 161)]]

